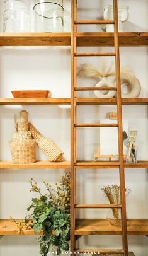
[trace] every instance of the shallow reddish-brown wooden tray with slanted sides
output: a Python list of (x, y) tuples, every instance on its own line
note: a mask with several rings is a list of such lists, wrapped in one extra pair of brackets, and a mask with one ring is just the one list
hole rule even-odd
[(47, 98), (50, 91), (11, 91), (14, 98)]

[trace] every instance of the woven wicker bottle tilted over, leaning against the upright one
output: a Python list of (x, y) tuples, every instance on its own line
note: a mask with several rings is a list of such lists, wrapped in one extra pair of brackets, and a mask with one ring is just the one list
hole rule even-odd
[(29, 123), (29, 129), (38, 147), (43, 151), (43, 153), (48, 156), (50, 161), (62, 161), (63, 152), (57, 146), (57, 144), (52, 141), (52, 139), (45, 139), (45, 137), (38, 132), (38, 130)]

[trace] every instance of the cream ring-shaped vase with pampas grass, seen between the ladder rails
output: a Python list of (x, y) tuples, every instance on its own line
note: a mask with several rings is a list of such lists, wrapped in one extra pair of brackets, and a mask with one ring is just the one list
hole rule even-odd
[[(95, 87), (113, 87), (115, 86), (113, 83), (108, 81), (107, 78), (103, 78), (100, 82), (96, 84)], [(98, 98), (113, 98), (115, 96), (116, 91), (94, 91), (94, 94)]]

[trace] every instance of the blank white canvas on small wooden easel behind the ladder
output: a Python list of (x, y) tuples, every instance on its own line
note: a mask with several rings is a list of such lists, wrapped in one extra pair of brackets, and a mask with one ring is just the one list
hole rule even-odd
[[(123, 131), (128, 134), (128, 121), (123, 120)], [(116, 124), (117, 120), (102, 119), (101, 124)], [(127, 147), (124, 146), (124, 154), (127, 154)], [(118, 128), (100, 128), (100, 155), (118, 155)]]

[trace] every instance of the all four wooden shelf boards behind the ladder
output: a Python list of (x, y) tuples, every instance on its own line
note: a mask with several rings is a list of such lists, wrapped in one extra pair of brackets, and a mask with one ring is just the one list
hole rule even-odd
[[(75, 33), (77, 47), (109, 47), (114, 45), (114, 33)], [(148, 32), (119, 33), (120, 47), (148, 45)], [(0, 33), (0, 46), (71, 46), (71, 33)], [(117, 105), (116, 98), (74, 98), (77, 105)], [(0, 105), (70, 105), (71, 98), (0, 98)], [(122, 98), (122, 105), (147, 105), (148, 98)], [(119, 168), (118, 161), (76, 161), (74, 168)], [(70, 161), (53, 163), (37, 161), (29, 165), (16, 165), (11, 161), (0, 161), (0, 169), (55, 169), (71, 168)], [(148, 168), (148, 161), (124, 163), (125, 169)], [(112, 226), (106, 219), (76, 219), (74, 235), (121, 235), (120, 226)], [(148, 219), (127, 221), (128, 235), (148, 235)], [(41, 235), (33, 230), (18, 232), (10, 219), (0, 220), (0, 236)]]

